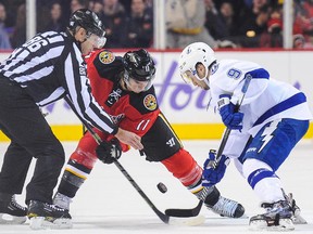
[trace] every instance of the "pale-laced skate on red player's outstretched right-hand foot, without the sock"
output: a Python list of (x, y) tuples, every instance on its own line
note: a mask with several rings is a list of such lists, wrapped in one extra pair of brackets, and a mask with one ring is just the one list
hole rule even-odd
[(210, 206), (208, 204), (205, 204), (205, 206), (209, 210), (212, 210), (222, 217), (240, 218), (245, 213), (245, 208), (241, 204), (238, 204), (237, 202), (225, 198), (223, 196), (220, 196), (217, 203), (214, 206)]

